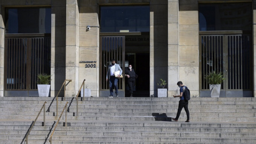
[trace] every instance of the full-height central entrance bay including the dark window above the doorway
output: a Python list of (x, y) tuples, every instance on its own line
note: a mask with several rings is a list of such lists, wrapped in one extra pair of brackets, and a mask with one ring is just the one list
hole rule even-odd
[[(111, 59), (121, 66), (123, 75), (132, 65), (139, 75), (134, 96), (149, 97), (149, 13), (149, 5), (100, 6), (100, 97), (110, 94), (106, 75)], [(125, 81), (119, 79), (119, 97), (129, 94)]]

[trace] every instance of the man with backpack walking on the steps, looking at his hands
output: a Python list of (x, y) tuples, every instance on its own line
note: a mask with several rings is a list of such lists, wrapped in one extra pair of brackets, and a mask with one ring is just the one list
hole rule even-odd
[(178, 108), (177, 116), (175, 118), (172, 118), (172, 120), (175, 122), (178, 122), (181, 110), (184, 107), (186, 114), (187, 114), (187, 121), (185, 121), (185, 122), (189, 122), (188, 100), (190, 99), (190, 92), (189, 92), (188, 87), (183, 85), (183, 83), (181, 81), (179, 81), (177, 83), (177, 85), (180, 87), (180, 95), (173, 95), (173, 97), (180, 98), (180, 101), (179, 101), (179, 108)]

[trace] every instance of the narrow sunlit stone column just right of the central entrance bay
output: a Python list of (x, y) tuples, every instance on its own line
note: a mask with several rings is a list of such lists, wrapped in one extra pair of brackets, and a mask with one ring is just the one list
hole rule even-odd
[(176, 95), (179, 77), (179, 1), (168, 1), (168, 97)]

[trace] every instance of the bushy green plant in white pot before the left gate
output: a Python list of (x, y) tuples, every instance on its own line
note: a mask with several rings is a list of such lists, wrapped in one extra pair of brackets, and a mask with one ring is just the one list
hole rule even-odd
[(39, 97), (49, 97), (51, 75), (38, 74), (37, 78), (37, 89)]

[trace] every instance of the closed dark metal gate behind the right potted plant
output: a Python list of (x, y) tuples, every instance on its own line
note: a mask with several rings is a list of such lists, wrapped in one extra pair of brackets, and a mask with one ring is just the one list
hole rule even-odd
[(200, 35), (200, 97), (208, 97), (204, 75), (221, 72), (220, 97), (252, 97), (252, 38), (250, 35)]

